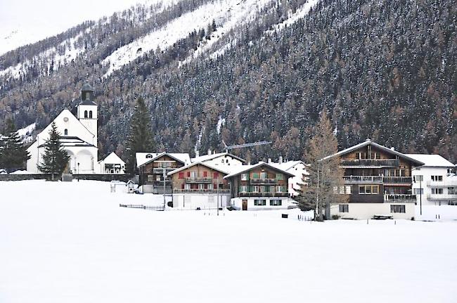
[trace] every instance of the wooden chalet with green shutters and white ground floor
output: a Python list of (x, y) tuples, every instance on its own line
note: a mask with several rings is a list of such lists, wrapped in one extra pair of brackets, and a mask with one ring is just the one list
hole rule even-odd
[(224, 176), (231, 183), (231, 206), (235, 209), (288, 208), (288, 179), (293, 174), (265, 162), (243, 165)]

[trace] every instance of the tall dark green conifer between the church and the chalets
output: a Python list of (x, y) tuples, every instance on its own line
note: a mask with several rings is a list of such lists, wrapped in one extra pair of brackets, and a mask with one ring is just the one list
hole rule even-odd
[(127, 136), (127, 172), (135, 172), (135, 154), (146, 153), (155, 147), (153, 131), (150, 127), (150, 112), (142, 97), (136, 99), (134, 114), (130, 118), (130, 129)]

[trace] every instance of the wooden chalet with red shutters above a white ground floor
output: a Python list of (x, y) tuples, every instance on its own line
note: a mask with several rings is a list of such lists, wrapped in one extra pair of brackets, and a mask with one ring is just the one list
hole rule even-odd
[(172, 180), (173, 207), (200, 209), (226, 207), (230, 186), (228, 173), (207, 162), (194, 162), (168, 173)]

